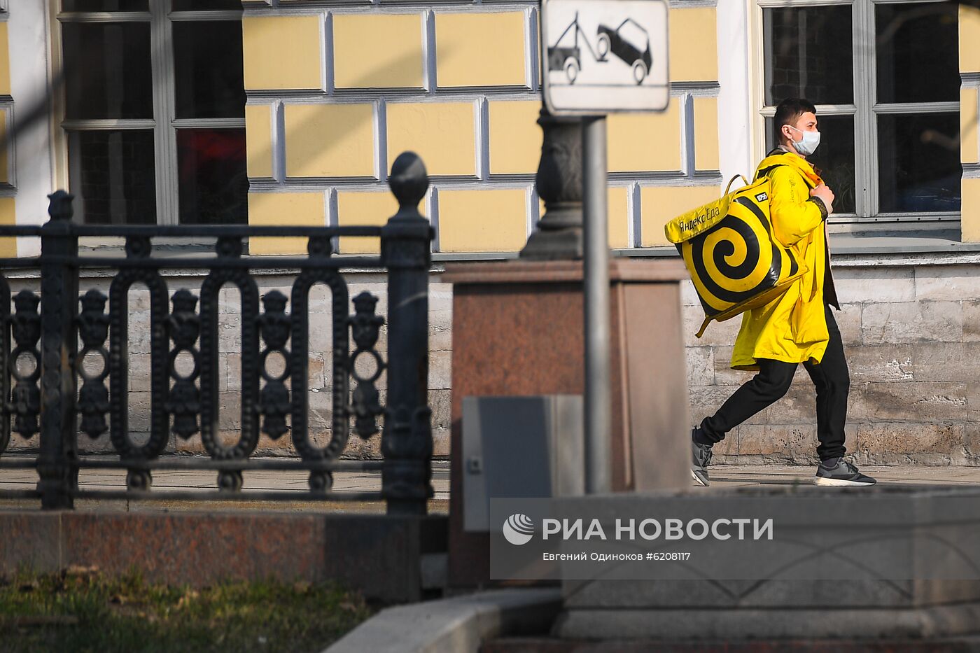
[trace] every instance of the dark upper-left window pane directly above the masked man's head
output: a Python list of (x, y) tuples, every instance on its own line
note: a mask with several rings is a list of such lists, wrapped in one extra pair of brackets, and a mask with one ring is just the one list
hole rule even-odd
[(850, 5), (765, 9), (765, 104), (854, 102)]

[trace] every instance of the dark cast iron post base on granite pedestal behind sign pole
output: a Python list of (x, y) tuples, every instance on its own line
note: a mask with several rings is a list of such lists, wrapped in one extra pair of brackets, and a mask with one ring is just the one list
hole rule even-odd
[(544, 131), (536, 177), (545, 215), (520, 258), (549, 261), (582, 258), (582, 121), (558, 118), (541, 107)]

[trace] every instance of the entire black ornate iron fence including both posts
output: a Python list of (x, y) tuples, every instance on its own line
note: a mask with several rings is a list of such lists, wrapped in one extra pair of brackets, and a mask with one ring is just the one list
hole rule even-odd
[[(45, 509), (73, 508), (76, 498), (384, 500), (389, 513), (424, 514), (432, 495), (427, 405), (432, 228), (417, 205), (428, 177), (421, 160), (405, 153), (395, 161), (389, 183), (400, 209), (385, 226), (82, 226), (73, 224), (73, 198), (64, 191), (50, 196), (45, 225), (0, 226), (0, 236), (41, 240), (39, 257), (0, 259), (0, 470), (36, 468), (38, 474), (36, 490), (0, 491), (0, 497), (37, 497)], [(79, 255), (83, 236), (124, 237), (124, 258)], [(307, 237), (309, 253), (244, 254), (246, 239), (260, 236)], [(339, 236), (379, 237), (380, 256), (334, 256)], [(154, 255), (155, 238), (174, 237), (213, 238), (214, 252), (190, 258)], [(40, 269), (40, 293), (21, 290), (11, 297), (5, 273), (18, 268)], [(116, 271), (108, 297), (95, 288), (79, 294), (79, 271), (86, 268)], [(206, 273), (199, 296), (184, 288), (170, 295), (161, 272), (175, 268)], [(378, 298), (362, 292), (352, 302), (341, 268), (387, 271), (386, 357), (376, 347), (385, 323), (375, 314)], [(290, 296), (272, 290), (260, 298), (251, 273), (283, 269), (296, 271)], [(142, 443), (127, 427), (127, 303), (135, 283), (145, 284), (150, 297), (150, 432)], [(311, 436), (307, 392), (308, 298), (317, 283), (329, 289), (333, 316), (332, 428), (322, 447)], [(219, 292), (226, 284), (240, 294), (242, 319), (241, 428), (231, 446), (218, 436), (216, 374)], [(284, 365), (270, 367), (273, 355)], [(178, 357), (192, 360), (189, 370), (176, 364)], [(356, 363), (365, 358), (371, 372), (362, 375)], [(382, 371), (385, 406), (375, 385)], [(354, 432), (367, 438), (378, 431), (379, 419), (382, 460), (339, 460), (352, 421)], [(79, 433), (97, 438), (106, 432), (118, 460), (79, 456)], [(171, 433), (186, 439), (197, 432), (210, 459), (161, 457)], [(39, 433), (36, 460), (2, 456), (12, 433), (25, 438)], [(260, 433), (273, 439), (289, 433), (300, 459), (252, 459)], [(125, 490), (79, 489), (79, 470), (92, 468), (124, 469)], [(213, 470), (218, 487), (153, 491), (155, 470)], [(251, 470), (308, 471), (310, 490), (243, 493), (243, 475)], [(332, 473), (368, 470), (381, 471), (379, 492), (331, 490)]]

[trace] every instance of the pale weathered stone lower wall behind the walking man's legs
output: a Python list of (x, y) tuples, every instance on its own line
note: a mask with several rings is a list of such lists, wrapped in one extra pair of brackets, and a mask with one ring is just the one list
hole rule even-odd
[[(980, 267), (974, 255), (835, 258), (835, 313), (851, 371), (847, 448), (858, 463), (980, 464)], [(712, 324), (684, 288), (695, 422), (752, 373), (729, 368), (741, 321)], [(716, 460), (815, 463), (813, 385), (800, 366), (781, 401), (715, 446)]]

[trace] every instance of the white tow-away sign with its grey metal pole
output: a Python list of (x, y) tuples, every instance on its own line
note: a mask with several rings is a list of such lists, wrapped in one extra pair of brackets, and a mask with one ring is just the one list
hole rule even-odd
[[(588, 494), (613, 489), (606, 116), (666, 110), (670, 103), (668, 15), (666, 0), (541, 0), (545, 107), (551, 116), (583, 117), (585, 491)], [(547, 139), (545, 143), (548, 148)], [(550, 166), (552, 160), (542, 158), (541, 165)], [(539, 182), (541, 178), (539, 173)], [(572, 179), (566, 181), (571, 185)], [(562, 211), (571, 214), (565, 204), (557, 203), (556, 208), (561, 206)], [(551, 205), (548, 211), (550, 216)], [(545, 225), (542, 221), (541, 233), (548, 231), (546, 226), (555, 228), (556, 222)], [(576, 246), (574, 235), (573, 230), (563, 234), (564, 241)], [(530, 243), (528, 248), (533, 252)], [(552, 249), (550, 244), (548, 249)]]

